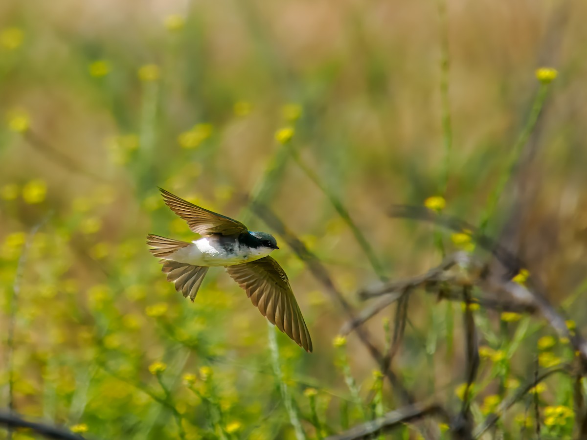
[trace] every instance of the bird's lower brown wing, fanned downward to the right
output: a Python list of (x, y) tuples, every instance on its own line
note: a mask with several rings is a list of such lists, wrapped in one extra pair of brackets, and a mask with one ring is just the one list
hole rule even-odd
[(227, 266), (228, 275), (241, 286), (259, 312), (306, 351), (312, 340), (288, 276), (270, 256), (249, 263)]

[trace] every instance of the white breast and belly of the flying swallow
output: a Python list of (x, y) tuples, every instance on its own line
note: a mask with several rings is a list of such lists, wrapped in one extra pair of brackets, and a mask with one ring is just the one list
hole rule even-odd
[(167, 259), (194, 266), (232, 266), (258, 260), (272, 251), (269, 248), (238, 246), (237, 242), (234, 244), (232, 248), (222, 246), (216, 239), (204, 237), (193, 241), (190, 246), (178, 249)]

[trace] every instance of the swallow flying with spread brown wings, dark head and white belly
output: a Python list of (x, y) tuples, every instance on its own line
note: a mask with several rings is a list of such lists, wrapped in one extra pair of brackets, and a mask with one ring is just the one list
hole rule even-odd
[(162, 272), (176, 290), (192, 302), (208, 268), (223, 266), (247, 292), (254, 306), (272, 324), (304, 350), (312, 351), (312, 340), (302, 312), (289, 285), (288, 276), (269, 253), (277, 247), (274, 236), (249, 231), (230, 217), (200, 208), (159, 188), (163, 201), (183, 218), (191, 231), (201, 235), (192, 242), (147, 235), (154, 256), (162, 258)]

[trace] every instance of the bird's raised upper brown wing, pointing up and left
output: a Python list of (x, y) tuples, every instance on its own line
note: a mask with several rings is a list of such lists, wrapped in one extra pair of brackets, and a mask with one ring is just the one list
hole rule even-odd
[(163, 188), (159, 188), (159, 190), (163, 194), (165, 204), (171, 208), (171, 211), (183, 218), (195, 233), (200, 235), (211, 235), (212, 233), (235, 235), (248, 231), (247, 226), (241, 222), (200, 208)]

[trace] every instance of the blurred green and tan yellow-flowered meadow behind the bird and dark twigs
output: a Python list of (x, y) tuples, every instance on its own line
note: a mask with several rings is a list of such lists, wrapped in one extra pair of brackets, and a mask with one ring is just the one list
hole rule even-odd
[[(287, 246), (275, 258), (311, 355), (268, 333), (222, 270), (193, 304), (178, 295), (144, 243), (148, 232), (191, 236), (158, 186), (268, 230), (242, 195), (258, 197), (361, 307), (360, 287), (441, 258), (434, 229), (390, 219), (390, 206), (438, 195), (478, 224), (505, 177), (487, 230), (508, 226), (514, 251), (581, 327), (586, 14), (585, 3), (548, 0), (1, 2), (2, 405), (96, 438), (299, 439), (402, 404), (353, 334), (336, 339), (345, 316)], [(543, 65), (558, 77), (514, 151)], [(394, 370), (418, 399), (462, 397), (453, 313), (459, 304), (410, 300)], [(381, 347), (390, 317), (367, 324)], [(537, 356), (543, 367), (573, 357), (540, 320), (475, 319), (480, 419)], [(571, 389), (553, 376), (535, 390), (546, 433), (570, 435)], [(531, 436), (527, 408), (500, 429)]]

